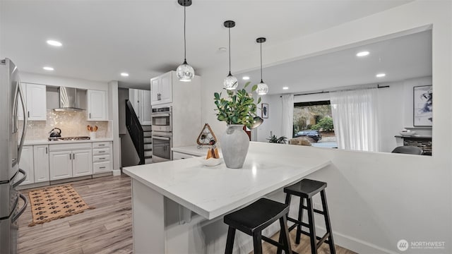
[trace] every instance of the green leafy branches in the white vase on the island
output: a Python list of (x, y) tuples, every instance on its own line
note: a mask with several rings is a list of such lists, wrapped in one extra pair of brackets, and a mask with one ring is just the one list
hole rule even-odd
[[(257, 106), (254, 103), (252, 92), (256, 91), (257, 85), (251, 87), (251, 92), (246, 92), (249, 82), (242, 90), (226, 90), (227, 97), (221, 97), (222, 93), (215, 92), (214, 100), (217, 108), (218, 121), (225, 121), (227, 124), (244, 124), (250, 128), (254, 123)], [(257, 104), (261, 103), (261, 98)]]

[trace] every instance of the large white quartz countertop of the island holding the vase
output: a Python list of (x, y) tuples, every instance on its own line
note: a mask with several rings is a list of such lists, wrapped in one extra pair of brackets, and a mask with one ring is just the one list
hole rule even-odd
[(144, 164), (123, 171), (206, 219), (214, 219), (331, 164), (320, 157), (285, 157), (253, 152), (251, 147), (242, 169), (228, 169), (224, 162), (206, 167), (200, 159)]

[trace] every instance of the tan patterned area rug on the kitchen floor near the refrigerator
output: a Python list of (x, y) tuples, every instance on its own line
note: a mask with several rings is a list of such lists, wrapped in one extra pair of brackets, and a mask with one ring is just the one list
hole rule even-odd
[(43, 188), (30, 191), (30, 204), (33, 222), (28, 226), (50, 222), (73, 214), (78, 214), (88, 207), (81, 196), (70, 185)]

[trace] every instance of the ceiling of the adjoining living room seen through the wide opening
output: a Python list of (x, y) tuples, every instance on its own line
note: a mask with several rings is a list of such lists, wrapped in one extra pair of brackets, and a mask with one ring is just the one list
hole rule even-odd
[[(356, 56), (363, 51), (369, 55)], [(432, 30), (270, 66), (262, 71), (268, 94), (317, 92), (429, 76), (432, 75)], [(376, 78), (378, 73), (386, 76)], [(251, 84), (261, 82), (260, 69), (237, 75), (240, 83), (246, 82), (243, 76), (249, 76)]]

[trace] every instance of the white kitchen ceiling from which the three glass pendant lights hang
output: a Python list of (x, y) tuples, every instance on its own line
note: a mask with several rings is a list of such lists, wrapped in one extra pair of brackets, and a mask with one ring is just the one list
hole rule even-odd
[[(227, 47), (222, 23), (228, 19), (237, 23), (234, 59), (255, 51), (256, 37), (267, 37), (270, 47), (408, 2), (194, 0), (186, 8), (187, 61), (195, 70), (227, 61), (219, 48)], [(22, 71), (148, 88), (150, 78), (184, 60), (183, 8), (176, 0), (2, 0), (0, 11), (0, 57)], [(50, 47), (49, 39), (63, 46)]]

